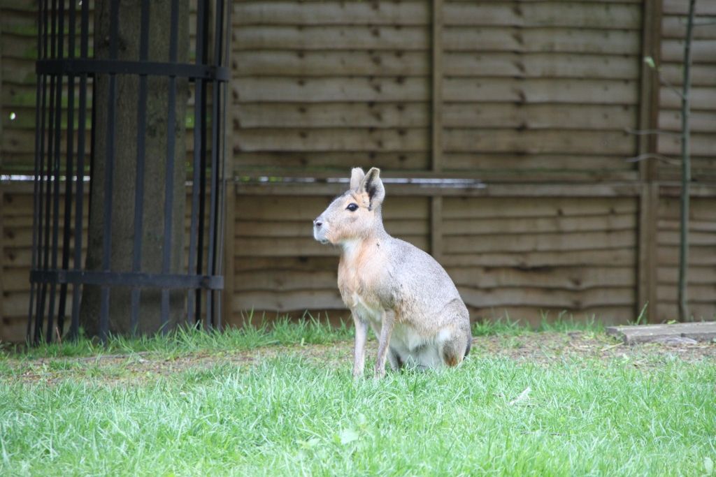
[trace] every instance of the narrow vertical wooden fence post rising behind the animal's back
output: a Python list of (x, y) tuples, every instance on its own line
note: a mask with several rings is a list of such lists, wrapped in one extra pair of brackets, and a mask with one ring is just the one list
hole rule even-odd
[[(442, 172), (442, 0), (432, 0), (432, 72), (431, 116), (431, 169)], [(430, 197), (430, 253), (435, 260), (442, 257), (442, 197)]]

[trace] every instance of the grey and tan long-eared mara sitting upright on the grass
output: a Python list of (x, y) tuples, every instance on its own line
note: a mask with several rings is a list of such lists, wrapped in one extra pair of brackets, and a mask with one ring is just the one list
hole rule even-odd
[(314, 220), (316, 240), (342, 247), (338, 285), (356, 325), (353, 373), (363, 373), (368, 327), (378, 338), (377, 377), (386, 362), (393, 369), (458, 365), (472, 340), (468, 309), (435, 259), (385, 231), (384, 197), (379, 169), (355, 168), (351, 189)]

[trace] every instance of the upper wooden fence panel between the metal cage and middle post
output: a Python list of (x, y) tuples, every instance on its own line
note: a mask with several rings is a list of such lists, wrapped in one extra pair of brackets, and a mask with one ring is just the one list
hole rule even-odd
[(425, 1), (237, 1), (233, 27), (237, 174), (427, 168)]

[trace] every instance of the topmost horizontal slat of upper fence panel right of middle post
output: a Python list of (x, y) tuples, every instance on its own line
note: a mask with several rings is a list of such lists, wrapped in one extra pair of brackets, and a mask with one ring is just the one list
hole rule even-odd
[(638, 29), (641, 9), (634, 4), (447, 2), (445, 25), (562, 26), (589, 29)]

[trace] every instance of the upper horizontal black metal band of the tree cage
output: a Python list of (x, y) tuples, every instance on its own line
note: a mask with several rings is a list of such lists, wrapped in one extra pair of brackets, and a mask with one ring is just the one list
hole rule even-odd
[(173, 76), (189, 79), (218, 79), (228, 81), (228, 67), (176, 62), (133, 62), (108, 59), (45, 59), (36, 62), (38, 74), (146, 74), (148, 76)]

